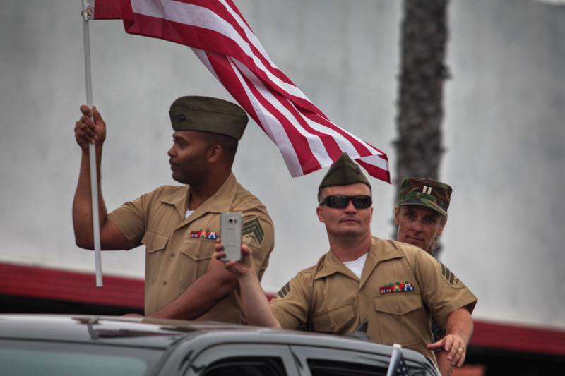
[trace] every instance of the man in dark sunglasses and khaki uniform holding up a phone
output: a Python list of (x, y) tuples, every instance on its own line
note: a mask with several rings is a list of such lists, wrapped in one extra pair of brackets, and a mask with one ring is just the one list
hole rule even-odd
[[(367, 322), (371, 340), (402, 344), (436, 362), (428, 347), (433, 315), (448, 332), (449, 360), (463, 365), (460, 348), (470, 339), (470, 313), (477, 298), (422, 249), (372, 236), (371, 185), (347, 154), (324, 176), (318, 202), (316, 214), (326, 226), (330, 250), (299, 272), (270, 304), (254, 275), (248, 248), (242, 247), (241, 262), (225, 264), (238, 277), (249, 324), (350, 334)], [(216, 251), (222, 257), (221, 244)]]

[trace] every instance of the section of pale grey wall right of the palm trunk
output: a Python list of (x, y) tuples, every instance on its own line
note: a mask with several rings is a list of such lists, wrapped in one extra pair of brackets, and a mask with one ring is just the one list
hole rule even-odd
[(477, 315), (565, 326), (565, 7), (454, 1), (443, 261)]

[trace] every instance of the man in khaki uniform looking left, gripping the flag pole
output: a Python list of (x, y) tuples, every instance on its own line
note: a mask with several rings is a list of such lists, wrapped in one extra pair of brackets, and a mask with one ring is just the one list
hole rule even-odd
[[(75, 135), (83, 158), (73, 226), (77, 245), (92, 249), (88, 142), (95, 142), (100, 166), (105, 123), (95, 107), (81, 111)], [(181, 97), (169, 115), (172, 177), (184, 185), (161, 186), (109, 214), (100, 195), (102, 249), (145, 245), (145, 315), (242, 322), (237, 278), (212, 256), (221, 212), (243, 214), (243, 241), (254, 252), (258, 276), (273, 250), (266, 207), (237, 183), (231, 170), (247, 116), (236, 104), (210, 97)]]

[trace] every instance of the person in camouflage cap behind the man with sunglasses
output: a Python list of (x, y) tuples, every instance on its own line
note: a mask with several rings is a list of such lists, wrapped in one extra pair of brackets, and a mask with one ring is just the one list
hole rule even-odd
[[(400, 183), (394, 223), (398, 226), (396, 240), (422, 248), (430, 255), (447, 223), (447, 209), (451, 200), (451, 186), (430, 178), (405, 177)], [(436, 320), (432, 321), (434, 342), (441, 343), (446, 331)], [(448, 352), (435, 346), (434, 350), (442, 375), (451, 374), (453, 367)]]

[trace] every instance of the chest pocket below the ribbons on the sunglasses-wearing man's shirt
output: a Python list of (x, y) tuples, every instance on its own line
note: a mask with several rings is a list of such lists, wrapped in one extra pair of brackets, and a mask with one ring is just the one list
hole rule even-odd
[(422, 315), (422, 299), (419, 293), (387, 293), (375, 298), (377, 322), (382, 341), (386, 344), (400, 342), (415, 344), (425, 336), (429, 320)]

